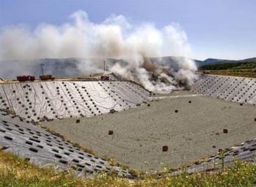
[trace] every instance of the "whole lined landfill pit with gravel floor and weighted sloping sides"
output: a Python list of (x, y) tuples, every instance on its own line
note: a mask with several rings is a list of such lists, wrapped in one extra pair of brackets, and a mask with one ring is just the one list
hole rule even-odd
[(0, 148), (85, 177), (218, 170), (235, 158), (255, 160), (255, 105), (253, 78), (200, 74), (189, 90), (171, 94), (115, 74), (2, 81)]

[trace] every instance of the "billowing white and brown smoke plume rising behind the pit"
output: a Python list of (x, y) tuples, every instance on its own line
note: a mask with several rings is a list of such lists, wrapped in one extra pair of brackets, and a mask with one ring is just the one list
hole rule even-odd
[[(43, 23), (35, 30), (25, 25), (8, 26), (1, 31), (0, 45), (0, 60), (19, 60), (27, 65), (39, 58), (122, 59), (110, 70), (152, 92), (189, 87), (196, 79), (194, 61), (176, 58), (170, 62), (161, 58), (187, 57), (190, 53), (187, 35), (177, 23), (158, 29), (153, 23), (132, 25), (123, 15), (93, 23), (87, 12), (78, 10), (61, 26)], [(0, 73), (12, 64), (5, 66)], [(79, 69), (95, 71), (101, 66), (101, 61), (88, 65), (80, 60)]]

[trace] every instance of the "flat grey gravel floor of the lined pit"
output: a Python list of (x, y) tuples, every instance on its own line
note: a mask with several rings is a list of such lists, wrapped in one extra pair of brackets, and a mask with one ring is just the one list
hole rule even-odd
[[(255, 138), (255, 117), (253, 105), (198, 96), (155, 100), (114, 114), (82, 117), (80, 123), (63, 119), (43, 125), (101, 156), (153, 172)], [(108, 135), (109, 130), (113, 135)], [(168, 151), (162, 151), (163, 145), (168, 146)]]

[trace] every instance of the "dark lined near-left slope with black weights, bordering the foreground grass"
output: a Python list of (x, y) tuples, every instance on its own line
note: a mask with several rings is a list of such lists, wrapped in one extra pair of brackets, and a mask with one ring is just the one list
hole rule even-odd
[(36, 165), (53, 164), (61, 169), (75, 170), (85, 177), (93, 173), (114, 171), (117, 175), (134, 177), (127, 170), (110, 165), (105, 159), (83, 149), (30, 122), (0, 111), (0, 148), (27, 158)]

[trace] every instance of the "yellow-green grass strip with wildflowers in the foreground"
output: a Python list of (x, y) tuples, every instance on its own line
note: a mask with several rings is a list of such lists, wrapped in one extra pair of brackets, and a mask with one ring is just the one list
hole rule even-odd
[(19, 156), (0, 151), (0, 186), (256, 186), (256, 164), (235, 161), (218, 173), (183, 172), (176, 177), (144, 174), (143, 180), (119, 178), (114, 173), (100, 173), (91, 178), (75, 177), (71, 170), (56, 172), (53, 167), (37, 167)]

